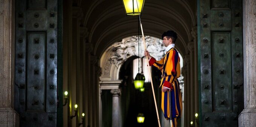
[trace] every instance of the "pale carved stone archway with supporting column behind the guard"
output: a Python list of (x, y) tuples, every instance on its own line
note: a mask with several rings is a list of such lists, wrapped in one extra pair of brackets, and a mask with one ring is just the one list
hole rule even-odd
[[(145, 36), (147, 50), (151, 55), (160, 60), (165, 55), (165, 47), (163, 46), (162, 40), (156, 37)], [(140, 43), (143, 43), (140, 40)], [(140, 56), (144, 54), (144, 47), (140, 48)], [(100, 60), (100, 66), (102, 68), (102, 74), (99, 81), (99, 89), (101, 96), (99, 96), (99, 116), (102, 116), (102, 91), (108, 90), (108, 93), (112, 94), (112, 126), (120, 126), (122, 121), (120, 118), (120, 104), (119, 99), (122, 91), (120, 90), (120, 84), (122, 79), (119, 77), (120, 68), (125, 63), (126, 60), (133, 56), (139, 56), (138, 49), (138, 36), (130, 36), (122, 39), (120, 42), (116, 42), (106, 49)], [(181, 57), (182, 59), (182, 57)], [(183, 64), (183, 61), (181, 61)], [(183, 79), (183, 77), (181, 78)], [(181, 90), (183, 91), (183, 83), (181, 83)], [(117, 123), (116, 121), (119, 121)], [(102, 118), (99, 119), (101, 126)]]

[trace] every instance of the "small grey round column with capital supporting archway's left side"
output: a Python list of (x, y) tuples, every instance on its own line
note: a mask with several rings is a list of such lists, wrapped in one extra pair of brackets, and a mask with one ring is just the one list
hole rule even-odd
[(119, 127), (119, 96), (121, 95), (120, 89), (112, 89), (112, 127)]

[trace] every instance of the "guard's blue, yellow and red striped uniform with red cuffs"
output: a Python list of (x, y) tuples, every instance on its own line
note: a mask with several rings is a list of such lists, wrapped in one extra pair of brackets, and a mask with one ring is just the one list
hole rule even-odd
[[(155, 66), (162, 71), (160, 87), (171, 90), (171, 118), (173, 127), (177, 127), (177, 118), (181, 118), (182, 98), (178, 79), (180, 77), (180, 57), (176, 49), (171, 48), (165, 57), (156, 61), (151, 57), (150, 66)], [(169, 92), (162, 92), (162, 111), (166, 120), (170, 119)]]

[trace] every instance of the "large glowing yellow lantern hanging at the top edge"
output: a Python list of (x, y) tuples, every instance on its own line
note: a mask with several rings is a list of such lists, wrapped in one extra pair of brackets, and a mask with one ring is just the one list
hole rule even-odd
[(143, 9), (144, 1), (145, 0), (123, 0), (126, 15), (140, 15)]

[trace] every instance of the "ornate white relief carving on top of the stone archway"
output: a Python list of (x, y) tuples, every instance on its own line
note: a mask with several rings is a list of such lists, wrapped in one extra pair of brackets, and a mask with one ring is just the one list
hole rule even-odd
[[(147, 50), (152, 57), (159, 60), (165, 55), (165, 47), (163, 46), (162, 40), (155, 37), (145, 36), (145, 42)], [(140, 39), (140, 44), (139, 52), (138, 36), (126, 37), (121, 42), (116, 42), (107, 49), (107, 51), (112, 52), (108, 60), (111, 64), (118, 67), (127, 60), (127, 58), (133, 55), (139, 56), (140, 54), (140, 57), (144, 57), (144, 44), (142, 39)]]

